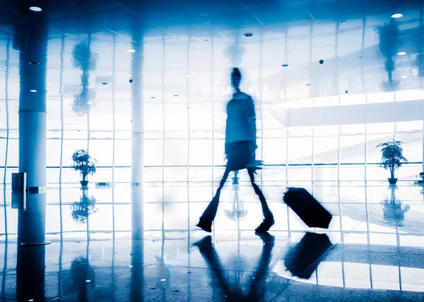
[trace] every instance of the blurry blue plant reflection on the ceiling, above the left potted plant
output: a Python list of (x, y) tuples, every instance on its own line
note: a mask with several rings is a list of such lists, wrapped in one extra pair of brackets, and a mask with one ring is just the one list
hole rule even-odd
[(90, 109), (90, 102), (95, 99), (95, 90), (89, 89), (90, 73), (97, 67), (96, 59), (93, 52), (90, 51), (90, 44), (81, 42), (77, 44), (72, 52), (73, 68), (79, 68), (83, 72), (81, 74), (81, 89), (73, 95), (72, 109), (78, 115), (85, 114)]

